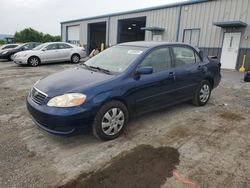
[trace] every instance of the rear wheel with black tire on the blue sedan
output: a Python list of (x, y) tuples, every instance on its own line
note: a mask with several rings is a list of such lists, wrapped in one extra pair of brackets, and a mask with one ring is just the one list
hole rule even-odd
[[(205, 88), (208, 88), (209, 91), (206, 91), (206, 95), (202, 95), (202, 89), (204, 91)], [(192, 100), (193, 105), (195, 106), (204, 106), (210, 99), (211, 96), (211, 83), (208, 80), (203, 80), (199, 86), (199, 88), (195, 92), (195, 96)], [(204, 97), (203, 97), (204, 96)], [(205, 97), (206, 96), (206, 97)]]

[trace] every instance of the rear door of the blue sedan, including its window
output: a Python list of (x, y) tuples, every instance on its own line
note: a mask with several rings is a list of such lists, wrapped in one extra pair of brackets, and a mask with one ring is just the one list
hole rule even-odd
[(193, 97), (202, 81), (205, 66), (197, 52), (189, 46), (173, 46), (175, 63), (176, 99)]

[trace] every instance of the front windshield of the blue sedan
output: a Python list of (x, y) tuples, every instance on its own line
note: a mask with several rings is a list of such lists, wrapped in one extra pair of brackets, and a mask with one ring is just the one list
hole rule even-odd
[(122, 73), (145, 50), (143, 47), (114, 46), (84, 63), (91, 68)]

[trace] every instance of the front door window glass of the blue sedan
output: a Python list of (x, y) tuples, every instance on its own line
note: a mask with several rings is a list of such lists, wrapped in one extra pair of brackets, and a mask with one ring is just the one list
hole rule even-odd
[(142, 61), (139, 67), (152, 67), (154, 72), (160, 72), (171, 68), (171, 56), (169, 48), (153, 50)]

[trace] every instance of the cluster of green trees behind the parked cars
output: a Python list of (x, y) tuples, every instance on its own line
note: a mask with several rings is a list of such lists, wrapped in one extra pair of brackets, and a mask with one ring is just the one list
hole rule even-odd
[(14, 35), (16, 42), (57, 42), (61, 40), (60, 36), (52, 36), (50, 34), (43, 34), (32, 28), (26, 28), (22, 31), (16, 32)]

